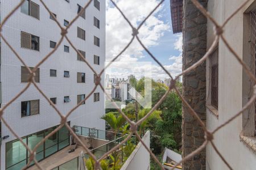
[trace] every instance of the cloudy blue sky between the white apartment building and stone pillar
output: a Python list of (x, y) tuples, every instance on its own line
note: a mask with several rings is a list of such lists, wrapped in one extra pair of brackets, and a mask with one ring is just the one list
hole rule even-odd
[[(130, 22), (137, 27), (139, 23), (158, 5), (160, 0), (115, 0), (118, 7), (127, 16)], [(166, 0), (156, 12), (148, 18), (139, 30), (139, 37), (152, 54), (172, 74), (177, 75), (181, 71), (181, 47), (182, 37), (174, 35), (171, 27), (170, 1)], [(110, 61), (127, 45), (131, 39), (131, 28), (123, 19), (120, 12), (107, 0), (106, 9), (106, 60)], [(172, 59), (170, 59), (172, 58)], [(142, 76), (140, 68), (129, 67), (129, 62), (152, 62), (152, 77), (154, 79), (168, 78), (167, 74), (156, 64), (155, 61), (143, 50), (135, 40), (130, 47), (118, 58), (125, 61), (119, 71), (112, 71), (110, 77), (127, 77), (129, 74)], [(148, 66), (148, 65), (147, 65)], [(145, 66), (145, 67), (147, 67)], [(151, 66), (148, 66), (151, 67)], [(148, 69), (145, 69), (148, 70)], [(136, 72), (137, 71), (137, 72)]]

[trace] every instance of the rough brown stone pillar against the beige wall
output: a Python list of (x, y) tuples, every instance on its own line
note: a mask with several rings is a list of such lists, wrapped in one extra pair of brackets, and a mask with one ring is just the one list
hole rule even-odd
[[(207, 0), (199, 0), (207, 7)], [(190, 0), (183, 1), (183, 70), (199, 61), (207, 51), (207, 19)], [(205, 62), (183, 76), (183, 96), (206, 121)], [(204, 131), (183, 105), (182, 156), (190, 154), (203, 144)], [(205, 169), (205, 150), (183, 163), (183, 169)]]

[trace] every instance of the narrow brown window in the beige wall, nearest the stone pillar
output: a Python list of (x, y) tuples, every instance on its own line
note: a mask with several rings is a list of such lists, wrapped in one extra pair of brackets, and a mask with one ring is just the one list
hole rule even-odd
[(210, 56), (210, 104), (218, 109), (218, 48)]

